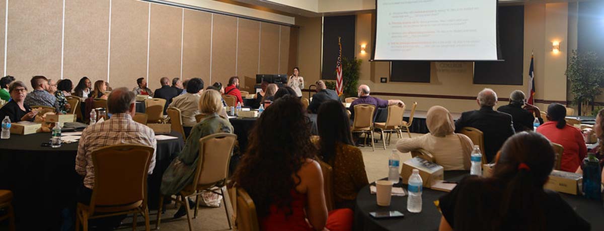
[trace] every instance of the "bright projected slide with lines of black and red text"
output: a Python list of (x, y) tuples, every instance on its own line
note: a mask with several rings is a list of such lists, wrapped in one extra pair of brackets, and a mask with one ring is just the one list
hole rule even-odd
[(497, 60), (496, 0), (377, 0), (374, 60)]

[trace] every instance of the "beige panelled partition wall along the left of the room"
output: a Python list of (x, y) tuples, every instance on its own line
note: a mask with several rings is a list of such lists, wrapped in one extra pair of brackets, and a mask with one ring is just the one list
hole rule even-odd
[(131, 89), (145, 77), (157, 89), (161, 77), (199, 77), (209, 85), (241, 74), (251, 90), (255, 74), (290, 66), (284, 25), (136, 0), (69, 0), (65, 8), (60, 0), (20, 0), (8, 1), (4, 36), (5, 5), (0, 0), (0, 46), (5, 38), (8, 44), (0, 68), (25, 83), (33, 75), (74, 84), (87, 76)]

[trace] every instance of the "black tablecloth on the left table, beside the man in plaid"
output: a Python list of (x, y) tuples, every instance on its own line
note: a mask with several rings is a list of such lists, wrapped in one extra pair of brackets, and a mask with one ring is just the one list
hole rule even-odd
[[(178, 139), (158, 141), (155, 169), (149, 176), (152, 207), (158, 204), (165, 168), (184, 146), (179, 133), (170, 135)], [(50, 133), (11, 134), (10, 139), (0, 140), (0, 189), (14, 193), (18, 230), (58, 230), (61, 210), (75, 203), (76, 189), (82, 182), (75, 170), (78, 143), (63, 144), (60, 148), (41, 147), (50, 136)]]

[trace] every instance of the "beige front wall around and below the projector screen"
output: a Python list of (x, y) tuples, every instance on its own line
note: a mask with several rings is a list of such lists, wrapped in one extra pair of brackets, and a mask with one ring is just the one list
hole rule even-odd
[[(516, 89), (528, 90), (528, 65), (531, 52), (535, 51), (535, 82), (536, 99), (545, 101), (565, 101), (567, 97), (567, 81), (564, 75), (567, 59), (567, 33), (568, 33), (567, 3), (556, 4), (528, 4), (524, 14), (524, 84), (511, 85), (486, 85), (473, 84), (473, 63), (460, 62), (451, 67), (451, 63), (432, 62), (430, 83), (379, 83), (379, 78), (390, 76), (390, 62), (368, 62), (370, 59), (371, 40), (371, 14), (358, 14), (356, 19), (356, 56), (362, 60), (361, 84), (368, 84), (372, 92), (380, 93), (412, 93), (420, 95), (452, 95), (461, 97), (475, 97), (484, 87), (490, 87), (498, 93), (499, 97), (507, 98)], [(313, 82), (320, 78), (320, 47), (321, 19), (304, 18), (296, 19), (300, 25), (301, 52), (298, 53), (298, 65), (304, 70), (306, 81)], [(571, 25), (572, 26), (572, 25)], [(561, 40), (562, 47), (559, 54), (551, 52), (551, 40)], [(367, 43), (367, 54), (360, 53), (360, 45)], [(547, 67), (547, 68), (546, 68)], [(546, 81), (547, 78), (547, 81)], [(417, 101), (418, 110), (428, 110), (429, 107), (441, 105), (452, 112), (463, 112), (477, 107), (475, 100), (457, 100), (426, 97), (390, 97), (411, 103)], [(500, 102), (498, 106), (506, 102)], [(539, 107), (547, 106), (539, 103)]]

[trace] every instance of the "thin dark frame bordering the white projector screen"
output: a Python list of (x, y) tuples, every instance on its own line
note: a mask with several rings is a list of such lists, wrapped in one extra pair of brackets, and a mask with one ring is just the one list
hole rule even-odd
[(501, 54), (501, 46), (500, 46), (500, 40), (499, 40), (499, 7), (500, 7), (500, 3), (499, 0), (491, 0), (491, 1), (495, 1), (495, 37), (496, 37), (496, 43), (497, 43), (497, 59), (496, 60), (475, 60), (475, 59), (380, 59), (380, 60), (376, 60), (376, 36), (377, 36), (377, 11), (379, 10), (377, 7), (377, 1), (376, 0), (376, 10), (375, 10), (375, 23), (373, 23), (373, 44), (371, 44), (372, 49), (371, 49), (371, 57), (369, 59), (369, 62), (394, 62), (394, 61), (429, 61), (429, 62), (475, 62), (475, 61), (481, 61), (481, 62), (504, 62), (506, 61), (505, 59), (503, 59), (503, 55)]

